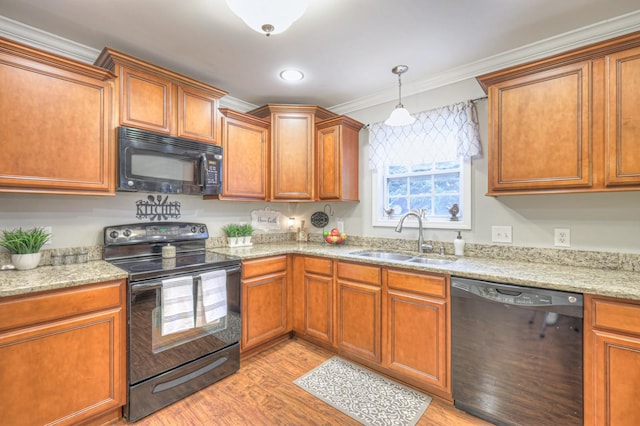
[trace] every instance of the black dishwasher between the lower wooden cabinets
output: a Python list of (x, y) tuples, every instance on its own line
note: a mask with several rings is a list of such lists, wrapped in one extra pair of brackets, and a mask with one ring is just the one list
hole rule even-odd
[(582, 294), (451, 279), (456, 408), (499, 425), (582, 425)]

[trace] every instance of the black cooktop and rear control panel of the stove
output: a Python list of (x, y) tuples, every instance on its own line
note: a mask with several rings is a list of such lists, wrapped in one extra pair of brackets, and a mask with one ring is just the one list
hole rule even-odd
[[(209, 233), (201, 223), (111, 226), (104, 229), (104, 236), (104, 259), (128, 272), (129, 281), (240, 265), (238, 257), (206, 250)], [(176, 257), (162, 257), (162, 247), (167, 244), (176, 247)]]

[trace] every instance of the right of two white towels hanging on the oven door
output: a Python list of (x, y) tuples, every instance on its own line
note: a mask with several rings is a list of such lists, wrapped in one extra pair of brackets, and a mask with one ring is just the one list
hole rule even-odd
[(196, 327), (227, 315), (227, 272), (224, 269), (200, 275)]

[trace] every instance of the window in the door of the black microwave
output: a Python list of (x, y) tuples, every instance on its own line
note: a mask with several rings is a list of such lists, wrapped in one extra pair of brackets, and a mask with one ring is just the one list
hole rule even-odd
[(189, 158), (153, 155), (153, 152), (143, 150), (131, 153), (131, 173), (137, 178), (192, 182), (194, 170), (194, 162)]

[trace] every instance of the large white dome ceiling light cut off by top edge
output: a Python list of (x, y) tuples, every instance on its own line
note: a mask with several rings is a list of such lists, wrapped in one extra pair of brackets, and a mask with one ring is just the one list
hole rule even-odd
[(265, 34), (280, 34), (300, 18), (310, 0), (226, 0), (229, 9), (251, 29)]

